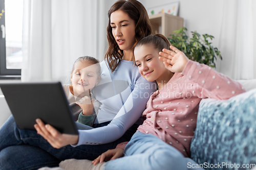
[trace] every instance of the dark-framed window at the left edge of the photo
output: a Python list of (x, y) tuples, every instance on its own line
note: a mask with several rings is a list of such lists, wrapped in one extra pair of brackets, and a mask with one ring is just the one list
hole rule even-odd
[(20, 79), (22, 0), (0, 0), (0, 79)]

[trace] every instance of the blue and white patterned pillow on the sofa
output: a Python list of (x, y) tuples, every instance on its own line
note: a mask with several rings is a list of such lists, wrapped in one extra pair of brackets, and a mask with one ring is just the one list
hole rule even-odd
[(256, 89), (227, 101), (203, 99), (198, 113), (191, 142), (194, 161), (205, 169), (250, 169), (256, 164)]

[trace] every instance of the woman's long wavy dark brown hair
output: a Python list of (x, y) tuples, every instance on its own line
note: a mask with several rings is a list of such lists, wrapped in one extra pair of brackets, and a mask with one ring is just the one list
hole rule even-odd
[(132, 18), (135, 22), (136, 42), (134, 46), (139, 40), (152, 34), (150, 19), (148, 18), (145, 7), (140, 2), (136, 0), (117, 1), (108, 12), (109, 24), (106, 28), (109, 48), (105, 54), (105, 61), (108, 63), (109, 68), (112, 72), (116, 69), (123, 57), (123, 51), (120, 50), (118, 44), (116, 43), (115, 37), (112, 34), (112, 27), (110, 26), (110, 16), (113, 12), (117, 10), (122, 10), (123, 12), (126, 12), (129, 17)]

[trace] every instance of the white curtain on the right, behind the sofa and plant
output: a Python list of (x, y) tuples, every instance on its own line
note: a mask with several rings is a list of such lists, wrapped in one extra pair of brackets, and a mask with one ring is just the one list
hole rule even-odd
[(256, 1), (225, 0), (218, 71), (234, 80), (256, 79)]

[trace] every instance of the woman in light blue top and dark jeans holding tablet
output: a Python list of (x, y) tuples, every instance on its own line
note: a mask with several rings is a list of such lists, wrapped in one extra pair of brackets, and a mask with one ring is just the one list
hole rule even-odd
[(152, 30), (145, 8), (136, 0), (117, 1), (108, 15), (109, 48), (101, 63), (100, 83), (94, 88), (95, 97), (101, 102), (96, 124), (90, 128), (77, 123), (79, 135), (68, 135), (37, 119), (38, 135), (36, 131), (17, 128), (11, 116), (0, 129), (1, 169), (56, 166), (70, 158), (93, 160), (130, 140), (135, 133), (135, 122), (156, 84), (148, 83), (134, 67), (133, 49)]

